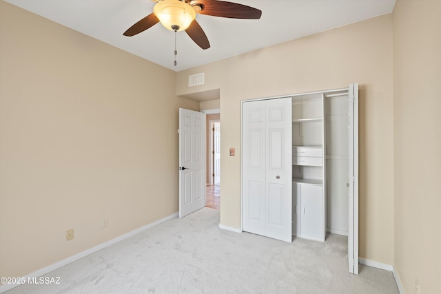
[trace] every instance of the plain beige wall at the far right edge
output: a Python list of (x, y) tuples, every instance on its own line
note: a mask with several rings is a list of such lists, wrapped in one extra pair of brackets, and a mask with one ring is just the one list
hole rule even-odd
[(441, 1), (393, 10), (395, 266), (405, 293), (441, 293)]

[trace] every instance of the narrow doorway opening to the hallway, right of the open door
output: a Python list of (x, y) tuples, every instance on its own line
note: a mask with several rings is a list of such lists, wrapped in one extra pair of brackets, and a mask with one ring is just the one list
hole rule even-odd
[(220, 209), (220, 115), (207, 115), (206, 207)]

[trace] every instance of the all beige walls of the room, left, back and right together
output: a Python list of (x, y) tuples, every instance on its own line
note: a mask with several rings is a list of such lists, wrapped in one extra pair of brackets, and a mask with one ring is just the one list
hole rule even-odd
[[(176, 74), (3, 1), (0, 12), (0, 276), (176, 212), (178, 107), (199, 107), (170, 91)], [(416, 279), (439, 292), (440, 14), (440, 0), (398, 0), (393, 20), (179, 72), (178, 95), (220, 89), (228, 118), (220, 222), (240, 227), (240, 101), (360, 83), (360, 256), (394, 264), (406, 293)], [(198, 72), (205, 85), (188, 88)]]

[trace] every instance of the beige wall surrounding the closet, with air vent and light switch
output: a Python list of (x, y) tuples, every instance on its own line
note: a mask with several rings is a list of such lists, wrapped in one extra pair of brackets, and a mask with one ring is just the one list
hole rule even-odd
[[(393, 264), (393, 43), (391, 14), (178, 72), (220, 88), (221, 224), (240, 228), (240, 101), (360, 83), (360, 257)], [(228, 156), (236, 147), (236, 156)]]

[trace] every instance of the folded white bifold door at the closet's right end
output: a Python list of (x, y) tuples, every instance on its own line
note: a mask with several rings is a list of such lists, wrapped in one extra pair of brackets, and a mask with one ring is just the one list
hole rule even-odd
[(349, 272), (358, 275), (358, 84), (349, 85)]

